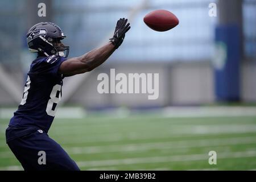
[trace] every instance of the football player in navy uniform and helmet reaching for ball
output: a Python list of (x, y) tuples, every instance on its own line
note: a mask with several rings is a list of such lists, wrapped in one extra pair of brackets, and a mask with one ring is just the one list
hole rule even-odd
[[(104, 63), (121, 46), (129, 29), (127, 19), (119, 19), (109, 43), (67, 59), (69, 47), (61, 43), (66, 36), (59, 26), (42, 22), (30, 28), (28, 49), (38, 57), (32, 61), (22, 101), (6, 129), (6, 142), (24, 170), (79, 170), (47, 134), (61, 99), (63, 78), (92, 71)], [(43, 155), (45, 159), (40, 158)]]

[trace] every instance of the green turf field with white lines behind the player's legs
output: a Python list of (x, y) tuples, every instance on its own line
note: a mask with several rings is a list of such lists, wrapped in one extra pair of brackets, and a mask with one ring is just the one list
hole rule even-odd
[[(0, 120), (0, 169), (22, 169), (5, 143), (8, 122)], [(256, 169), (256, 117), (55, 119), (49, 136), (82, 170)]]

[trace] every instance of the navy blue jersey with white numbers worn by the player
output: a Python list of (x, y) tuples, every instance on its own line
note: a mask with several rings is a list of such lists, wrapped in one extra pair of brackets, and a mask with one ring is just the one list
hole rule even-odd
[(64, 57), (52, 55), (38, 57), (32, 62), (22, 101), (9, 123), (11, 130), (6, 135), (7, 141), (20, 137), (29, 130), (48, 132), (61, 99), (63, 76), (58, 70), (65, 60)]

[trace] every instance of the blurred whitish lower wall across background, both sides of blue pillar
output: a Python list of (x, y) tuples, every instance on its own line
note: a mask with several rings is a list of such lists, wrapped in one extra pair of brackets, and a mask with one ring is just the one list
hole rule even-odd
[[(117, 73), (159, 73), (159, 98), (148, 100), (147, 94), (99, 94), (97, 85), (100, 73), (110, 74), (110, 68)], [(15, 74), (18, 76), (19, 74)], [(22, 77), (20, 73), (20, 77)], [(17, 77), (18, 80), (22, 80)], [(68, 78), (64, 79), (63, 97)], [(88, 107), (104, 106), (167, 106), (196, 105), (214, 102), (213, 70), (210, 63), (113, 63), (104, 64), (92, 71), (81, 87), (68, 100), (69, 104)], [(22, 83), (20, 86), (22, 87)], [(21, 88), (23, 90), (23, 88)], [(241, 99), (256, 102), (256, 63), (244, 61), (241, 68)], [(0, 88), (0, 105), (14, 105), (9, 94)]]

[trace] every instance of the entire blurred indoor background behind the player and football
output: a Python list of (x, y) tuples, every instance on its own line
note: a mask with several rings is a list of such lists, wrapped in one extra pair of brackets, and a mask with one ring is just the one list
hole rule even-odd
[[(46, 17), (39, 17), (39, 3)], [(108, 42), (119, 18), (131, 23), (122, 46), (100, 67), (64, 79), (50, 134), (81, 169), (255, 169), (256, 1), (87, 0), (0, 2), (0, 169), (22, 169), (5, 144), (35, 58), (26, 33), (36, 23), (60, 26), (80, 56)], [(210, 16), (216, 5), (216, 16)], [(179, 25), (156, 32), (152, 10)], [(100, 73), (159, 73), (159, 98), (100, 94)], [(123, 121), (123, 122), (122, 122)], [(210, 165), (208, 152), (220, 154)], [(235, 160), (236, 159), (236, 160)]]

